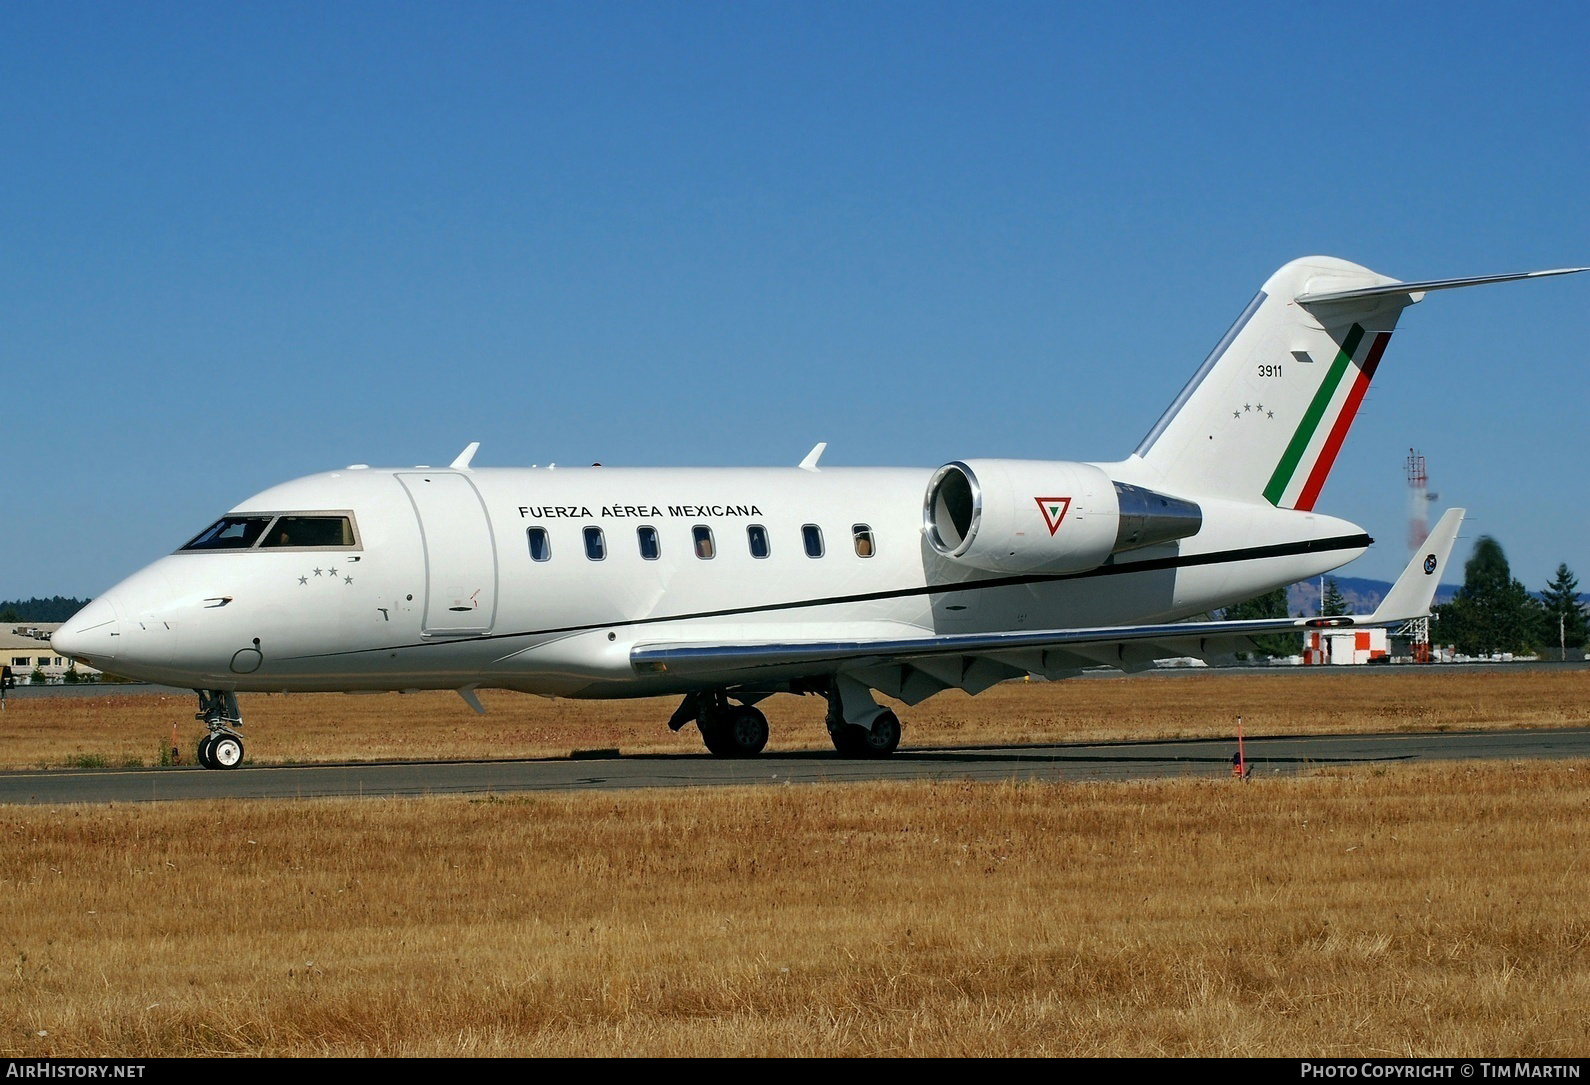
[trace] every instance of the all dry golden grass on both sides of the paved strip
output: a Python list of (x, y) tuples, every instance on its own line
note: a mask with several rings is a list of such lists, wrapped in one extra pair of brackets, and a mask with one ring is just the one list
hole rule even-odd
[[(1154, 675), (940, 698), (906, 733), (1550, 725), (1585, 692)], [(14, 702), (3, 759), (194, 733), (186, 700), (118, 700)], [(819, 745), (785, 700), (774, 735)], [(661, 703), (491, 708), (243, 700), (267, 760), (698, 749)], [(0, 1055), (1585, 1055), (1587, 827), (1590, 762), (0, 807)]]

